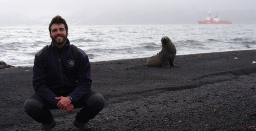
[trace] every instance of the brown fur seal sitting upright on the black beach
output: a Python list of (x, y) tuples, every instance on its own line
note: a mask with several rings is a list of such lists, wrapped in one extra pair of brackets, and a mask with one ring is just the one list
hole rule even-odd
[(175, 45), (171, 42), (167, 36), (162, 37), (162, 50), (154, 56), (147, 59), (147, 67), (170, 67), (175, 66), (173, 64), (176, 56)]

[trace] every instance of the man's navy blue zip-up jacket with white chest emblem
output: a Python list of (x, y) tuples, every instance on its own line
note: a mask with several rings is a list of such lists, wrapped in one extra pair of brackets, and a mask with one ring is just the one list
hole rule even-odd
[(78, 48), (79, 68), (76, 71), (76, 62), (71, 45), (67, 39), (62, 52), (51, 43), (48, 46), (46, 68), (43, 67), (42, 50), (35, 55), (33, 66), (33, 88), (39, 96), (52, 105), (57, 104), (55, 97), (71, 96), (74, 102), (78, 101), (91, 89), (91, 67), (86, 53)]

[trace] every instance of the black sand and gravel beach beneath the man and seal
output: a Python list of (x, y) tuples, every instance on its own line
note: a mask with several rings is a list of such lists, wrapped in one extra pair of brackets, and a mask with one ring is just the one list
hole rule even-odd
[[(92, 62), (92, 87), (106, 99), (94, 131), (255, 131), (256, 50), (178, 55), (175, 67), (147, 58)], [(0, 70), (0, 130), (34, 131), (24, 111), (32, 67)], [(54, 131), (75, 131), (74, 116), (52, 110)]]

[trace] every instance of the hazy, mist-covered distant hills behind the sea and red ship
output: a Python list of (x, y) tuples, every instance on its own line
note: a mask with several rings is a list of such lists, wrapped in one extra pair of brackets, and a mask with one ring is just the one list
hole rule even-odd
[[(200, 18), (218, 13), (221, 19), (230, 19), (233, 24), (256, 24), (256, 10), (123, 10), (120, 12), (79, 11), (62, 16), (68, 25), (136, 25), (136, 24), (197, 24)], [(29, 17), (4, 16), (0, 26), (48, 26), (52, 15)]]

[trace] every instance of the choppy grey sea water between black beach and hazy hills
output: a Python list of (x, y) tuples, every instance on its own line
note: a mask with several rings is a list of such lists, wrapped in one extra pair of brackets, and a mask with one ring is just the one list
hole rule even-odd
[[(67, 38), (97, 62), (150, 57), (161, 50), (163, 36), (176, 55), (256, 49), (256, 24), (69, 26)], [(33, 66), (36, 52), (50, 42), (48, 27), (0, 27), (0, 60)]]

